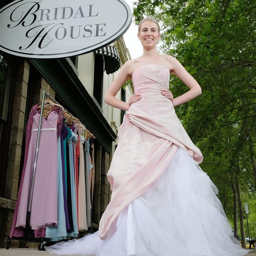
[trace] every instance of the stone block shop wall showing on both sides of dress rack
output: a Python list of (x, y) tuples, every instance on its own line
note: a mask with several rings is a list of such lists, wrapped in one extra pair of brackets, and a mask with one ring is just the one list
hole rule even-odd
[[(43, 90), (55, 97), (55, 91), (49, 83), (39, 74), (39, 72), (30, 66), (27, 60), (21, 60), (15, 79), (15, 98), (12, 115), (11, 140), (9, 145), (8, 166), (6, 174), (6, 189), (5, 198), (0, 198), (0, 248), (6, 247), (6, 237), (9, 235), (11, 224), (13, 221), (13, 213), (17, 200), (17, 191), (19, 183), (21, 154), (22, 154), (22, 138), (24, 128), (26, 127), (25, 118), (29, 114), (30, 109), (27, 109), (27, 96), (30, 90), (30, 102), (32, 105), (38, 104), (42, 100)], [(28, 100), (29, 102), (29, 100)], [(109, 169), (109, 154), (95, 139), (95, 187), (93, 195), (93, 230), (98, 229), (100, 217), (108, 206), (110, 200), (110, 186), (106, 174)], [(21, 168), (20, 168), (21, 167)], [(88, 232), (92, 232), (88, 230)], [(85, 232), (87, 233), (87, 232)], [(84, 233), (80, 234), (83, 236)], [(10, 248), (37, 248), (38, 243), (11, 241)]]

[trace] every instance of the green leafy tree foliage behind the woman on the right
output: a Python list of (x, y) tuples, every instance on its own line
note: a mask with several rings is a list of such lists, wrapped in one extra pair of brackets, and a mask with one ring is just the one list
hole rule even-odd
[[(219, 188), (230, 223), (234, 218), (230, 173), (239, 176), (242, 200), (249, 203), (250, 234), (256, 237), (255, 2), (137, 0), (134, 4), (137, 24), (149, 15), (160, 21), (158, 51), (178, 59), (200, 84), (202, 95), (177, 106), (176, 113), (204, 155), (201, 167)], [(176, 76), (170, 78), (170, 89), (174, 98), (188, 90)]]

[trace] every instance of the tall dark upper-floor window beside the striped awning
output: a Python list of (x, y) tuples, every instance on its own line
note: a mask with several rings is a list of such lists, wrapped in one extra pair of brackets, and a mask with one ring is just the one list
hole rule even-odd
[(93, 82), (93, 96), (102, 108), (103, 98), (103, 74), (104, 74), (104, 56), (102, 54), (95, 54), (94, 57), (94, 82)]

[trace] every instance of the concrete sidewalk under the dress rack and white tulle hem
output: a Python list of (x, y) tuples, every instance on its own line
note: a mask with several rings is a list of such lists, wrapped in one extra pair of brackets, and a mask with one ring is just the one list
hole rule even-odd
[[(256, 256), (256, 250), (254, 249), (247, 249), (247, 250), (250, 250), (250, 252), (247, 255)], [(37, 249), (9, 249), (9, 250), (0, 249), (0, 256), (41, 256), (41, 255), (53, 256), (56, 254), (50, 254), (47, 251), (39, 251)], [(75, 255), (75, 256), (81, 256), (81, 255)]]

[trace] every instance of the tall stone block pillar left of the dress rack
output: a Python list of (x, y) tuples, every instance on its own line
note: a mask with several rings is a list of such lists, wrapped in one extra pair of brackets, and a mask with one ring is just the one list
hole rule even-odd
[[(27, 60), (20, 61), (15, 77), (15, 96), (6, 173), (6, 187), (4, 198), (0, 198), (0, 247), (5, 247), (6, 237), (9, 235), (17, 200), (29, 70), (30, 63)], [(17, 247), (18, 244), (19, 243), (14, 242), (13, 246)]]

